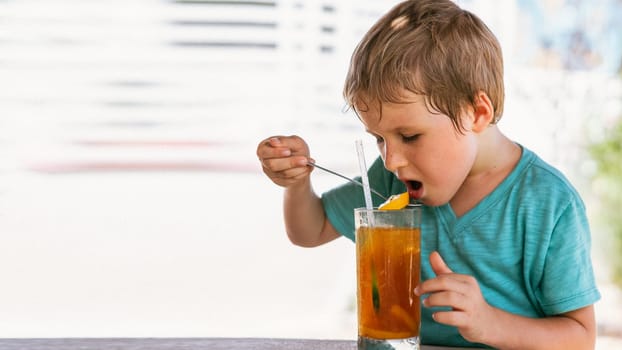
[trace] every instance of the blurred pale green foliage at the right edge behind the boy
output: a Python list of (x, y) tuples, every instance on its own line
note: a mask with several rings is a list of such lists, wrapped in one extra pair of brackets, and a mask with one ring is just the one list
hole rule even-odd
[(612, 277), (622, 286), (622, 118), (590, 147), (590, 154), (597, 165), (594, 189), (601, 199), (599, 214), (611, 233)]

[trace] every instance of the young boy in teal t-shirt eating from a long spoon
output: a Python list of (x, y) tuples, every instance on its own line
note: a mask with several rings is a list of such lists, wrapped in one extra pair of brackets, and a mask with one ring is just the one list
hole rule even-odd
[[(561, 173), (499, 130), (502, 54), (485, 24), (449, 0), (397, 5), (357, 46), (344, 96), (378, 143), (371, 187), (423, 204), (422, 343), (593, 349), (600, 295), (585, 208)], [(297, 136), (270, 137), (257, 155), (285, 188), (294, 244), (354, 240), (360, 188), (318, 197)]]

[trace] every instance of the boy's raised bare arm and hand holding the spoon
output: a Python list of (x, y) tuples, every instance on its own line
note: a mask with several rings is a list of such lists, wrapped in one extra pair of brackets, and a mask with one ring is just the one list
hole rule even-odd
[(264, 173), (285, 188), (285, 229), (292, 243), (314, 247), (339, 237), (324, 214), (321, 199), (313, 191), (307, 166), (309, 148), (298, 136), (270, 137), (257, 146)]

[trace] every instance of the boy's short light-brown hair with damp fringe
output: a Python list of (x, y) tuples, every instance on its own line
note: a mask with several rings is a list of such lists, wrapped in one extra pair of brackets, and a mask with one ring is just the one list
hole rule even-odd
[(358, 44), (343, 90), (350, 108), (403, 103), (424, 95), (462, 130), (463, 108), (483, 91), (496, 123), (503, 113), (503, 57), (494, 34), (450, 0), (408, 0), (385, 14)]

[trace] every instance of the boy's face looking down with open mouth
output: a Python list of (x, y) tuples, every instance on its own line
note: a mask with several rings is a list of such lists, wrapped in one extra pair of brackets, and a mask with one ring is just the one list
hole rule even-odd
[[(383, 103), (358, 111), (367, 131), (376, 137), (387, 170), (403, 181), (412, 198), (426, 205), (448, 203), (458, 192), (476, 160), (477, 135), (471, 118), (458, 132), (448, 116), (428, 111), (424, 98), (405, 93), (409, 103)], [(468, 116), (468, 115), (467, 115)]]

